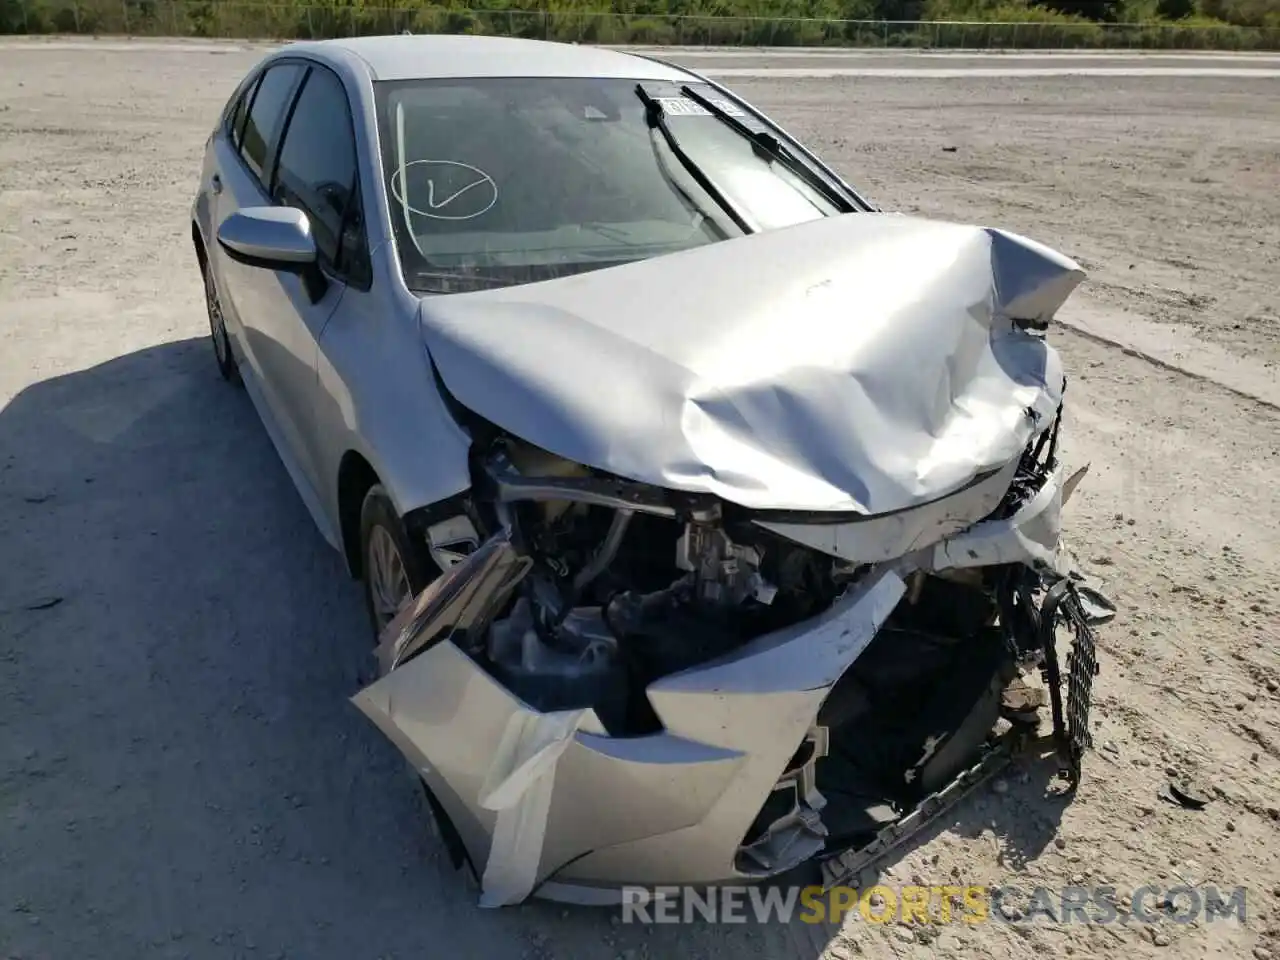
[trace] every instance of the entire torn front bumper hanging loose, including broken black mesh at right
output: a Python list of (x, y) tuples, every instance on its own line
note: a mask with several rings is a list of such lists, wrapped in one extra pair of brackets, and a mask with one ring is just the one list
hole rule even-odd
[[(649, 684), (660, 732), (614, 737), (591, 708), (536, 710), (454, 643), (486, 631), (527, 572), (507, 532), (397, 618), (379, 648), (384, 676), (353, 700), (421, 776), (480, 878), (484, 905), (531, 895), (617, 902), (626, 886), (741, 883), (812, 859), (824, 860), (836, 882), (845, 865), (900, 842), (940, 795), (975, 782), (972, 769), (955, 773), (870, 847), (827, 849), (826, 799), (814, 782), (827, 748), (819, 712), (919, 577), (998, 571), (1007, 641), (1020, 664), (1039, 667), (1064, 767), (1079, 776), (1092, 623), (1107, 611), (1083, 591), (1062, 549), (1052, 451), (1044, 466), (1024, 457), (1004, 488), (988, 520), (867, 564), (822, 614)], [(1065, 658), (1061, 626), (1073, 634)], [(780, 795), (787, 809), (753, 829)]]

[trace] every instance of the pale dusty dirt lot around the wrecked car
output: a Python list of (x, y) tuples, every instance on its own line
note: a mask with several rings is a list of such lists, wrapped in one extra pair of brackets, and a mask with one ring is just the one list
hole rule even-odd
[[(253, 59), (0, 46), (0, 955), (1280, 957), (1280, 416), (1069, 330), (1069, 534), (1121, 605), (1100, 749), (1071, 803), (1014, 772), (888, 882), (1244, 884), (1243, 925), (476, 909), (346, 700), (358, 591), (204, 339), (187, 207)], [(1280, 81), (735, 86), (887, 207), (1057, 244), (1089, 310), (1274, 378)]]

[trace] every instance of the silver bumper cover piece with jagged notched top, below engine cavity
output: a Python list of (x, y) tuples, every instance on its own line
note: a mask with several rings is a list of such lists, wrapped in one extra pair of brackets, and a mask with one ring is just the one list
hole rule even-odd
[[(486, 568), (472, 557), (453, 571), (467, 563), (476, 576)], [(733, 865), (742, 835), (827, 690), (904, 590), (879, 571), (812, 622), (653, 684), (664, 732), (648, 737), (586, 732), (599, 728), (589, 709), (530, 709), (448, 641), (355, 703), (443, 792), (472, 863), (484, 865), (488, 905), (518, 902), (549, 878), (616, 881), (618, 856), (635, 882), (728, 879), (742, 876)]]

